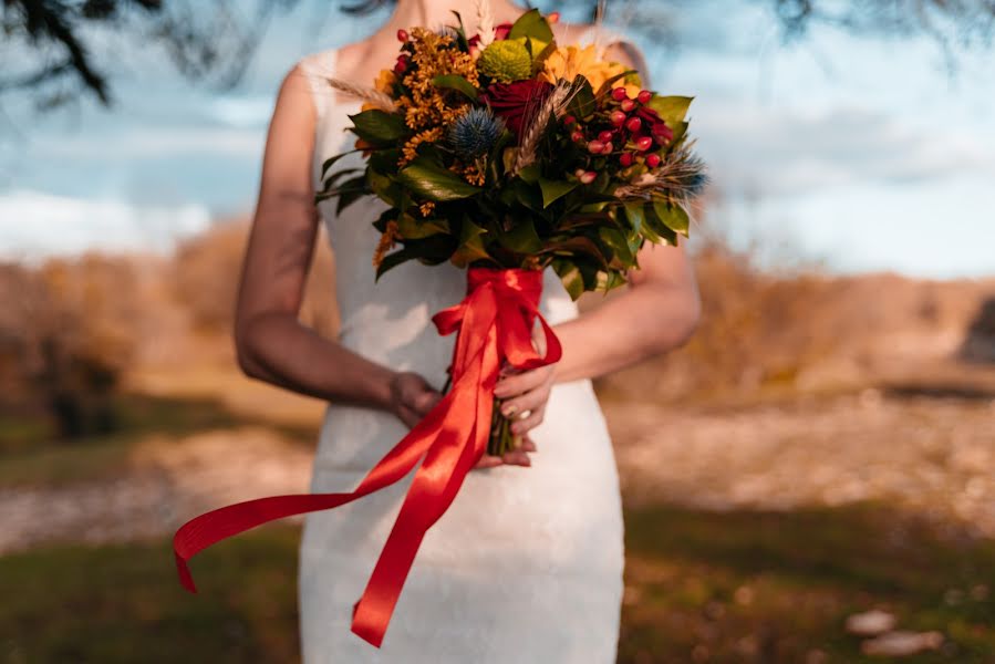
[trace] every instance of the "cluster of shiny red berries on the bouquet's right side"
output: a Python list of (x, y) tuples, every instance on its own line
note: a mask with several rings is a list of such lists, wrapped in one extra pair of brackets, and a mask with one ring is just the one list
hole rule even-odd
[[(653, 93), (649, 90), (640, 91), (635, 98), (631, 98), (624, 87), (613, 89), (608, 104), (611, 128), (599, 131), (593, 138), (589, 138), (584, 128), (570, 115), (563, 118), (563, 124), (572, 127), (571, 141), (583, 144), (592, 155), (615, 154), (623, 168), (635, 163), (645, 163), (650, 168), (656, 168), (660, 166), (659, 151), (650, 149), (667, 145), (674, 138), (674, 131), (666, 126), (656, 111), (646, 105), (652, 98)], [(588, 170), (584, 176), (587, 181), (592, 181), (595, 174)], [(585, 177), (578, 177), (585, 181)]]

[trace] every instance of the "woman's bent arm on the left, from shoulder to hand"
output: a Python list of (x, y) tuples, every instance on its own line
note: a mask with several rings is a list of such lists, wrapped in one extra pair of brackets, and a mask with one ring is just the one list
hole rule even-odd
[(270, 122), (242, 266), (235, 317), (239, 366), (301, 394), (416, 422), (437, 400), (427, 385), (419, 388), (419, 377), (371, 362), (298, 321), (319, 225), (311, 181), (315, 122), (310, 81), (294, 68)]

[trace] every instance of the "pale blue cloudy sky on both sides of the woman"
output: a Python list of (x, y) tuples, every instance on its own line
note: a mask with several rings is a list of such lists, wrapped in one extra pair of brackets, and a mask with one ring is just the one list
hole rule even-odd
[[(995, 273), (993, 52), (951, 75), (926, 40), (829, 29), (780, 42), (767, 2), (672, 2), (675, 44), (641, 43), (653, 86), (696, 97), (718, 203), (707, 221), (770, 262), (931, 278)], [(0, 256), (162, 248), (251, 211), (282, 74), (372, 30), (302, 1), (229, 92), (191, 85), (155, 49), (105, 37), (117, 103), (0, 123)], [(610, 3), (611, 7), (611, 3)], [(730, 10), (735, 7), (735, 10)]]

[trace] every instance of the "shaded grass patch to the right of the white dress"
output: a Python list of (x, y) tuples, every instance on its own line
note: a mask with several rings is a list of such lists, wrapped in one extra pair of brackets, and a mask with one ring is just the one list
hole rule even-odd
[[(995, 662), (995, 542), (941, 537), (882, 506), (781, 513), (666, 507), (626, 513), (620, 662), (828, 662), (862, 657), (846, 618), (892, 611), (939, 630), (909, 663)], [(972, 596), (973, 593), (973, 596)]]

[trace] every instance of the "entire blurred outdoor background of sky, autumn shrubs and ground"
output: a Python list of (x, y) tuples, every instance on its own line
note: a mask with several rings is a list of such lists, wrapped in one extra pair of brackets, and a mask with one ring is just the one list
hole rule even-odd
[[(0, 4), (0, 661), (298, 658), (298, 523), (198, 557), (196, 598), (169, 538), (307, 490), (322, 404), (239, 374), (235, 291), (280, 79), (387, 11)], [(595, 383), (620, 662), (995, 662), (995, 7), (605, 15), (714, 179), (697, 334)], [(333, 282), (322, 245), (330, 336)]]

